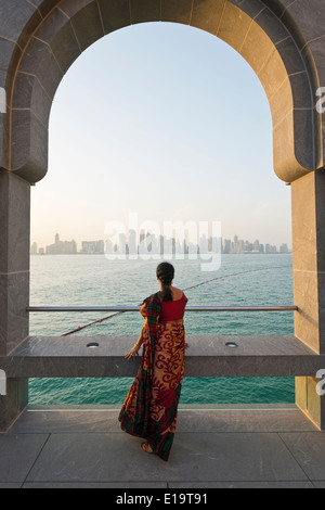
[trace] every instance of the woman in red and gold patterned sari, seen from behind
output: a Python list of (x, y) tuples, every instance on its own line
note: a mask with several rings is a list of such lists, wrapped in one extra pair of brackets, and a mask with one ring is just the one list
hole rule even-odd
[(141, 448), (168, 460), (177, 425), (178, 404), (184, 374), (187, 297), (171, 285), (173, 266), (161, 263), (156, 270), (160, 291), (144, 299), (140, 313), (145, 318), (141, 335), (126, 355), (138, 356), (141, 365), (119, 415), (121, 429), (146, 441)]

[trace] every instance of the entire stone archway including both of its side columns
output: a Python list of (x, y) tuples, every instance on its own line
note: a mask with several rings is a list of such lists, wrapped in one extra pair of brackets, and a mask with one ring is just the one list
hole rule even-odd
[[(324, 16), (320, 0), (1, 0), (0, 364), (14, 370), (0, 401), (0, 431), (28, 403), (30, 371), (11, 354), (24, 346), (28, 358), (32, 349), (27, 313), (30, 183), (47, 173), (55, 91), (69, 65), (101, 37), (158, 21), (191, 25), (224, 40), (247, 60), (265, 89), (274, 169), (291, 183), (292, 350), (301, 344), (309, 349), (295, 373), (297, 405), (325, 430), (325, 400), (314, 391), (312, 371), (322, 367), (325, 353)], [(53, 357), (43, 362), (48, 377)]]

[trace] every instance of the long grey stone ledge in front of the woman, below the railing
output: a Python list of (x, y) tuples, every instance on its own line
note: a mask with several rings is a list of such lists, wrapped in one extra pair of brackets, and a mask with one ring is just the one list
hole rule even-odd
[[(8, 378), (134, 377), (140, 358), (126, 361), (135, 336), (29, 336), (0, 357)], [(185, 377), (315, 377), (325, 368), (294, 335), (186, 336)], [(227, 347), (235, 342), (236, 348)], [(94, 348), (89, 343), (98, 343)]]

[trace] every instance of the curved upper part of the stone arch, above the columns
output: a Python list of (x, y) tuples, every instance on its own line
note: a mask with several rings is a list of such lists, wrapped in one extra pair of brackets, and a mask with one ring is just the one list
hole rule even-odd
[[(16, 1), (11, 0), (13, 9)], [(321, 115), (314, 107), (320, 85), (302, 31), (285, 8), (292, 2), (20, 0), (20, 3), (25, 3), (28, 12), (25, 25), (22, 22), (22, 29), (17, 28), (6, 76), (9, 100), (2, 168), (29, 182), (40, 180), (48, 167), (51, 104), (68, 67), (101, 37), (132, 24), (158, 21), (182, 23), (213, 34), (250, 64), (269, 99), (274, 170), (282, 180), (292, 182), (322, 167)]]

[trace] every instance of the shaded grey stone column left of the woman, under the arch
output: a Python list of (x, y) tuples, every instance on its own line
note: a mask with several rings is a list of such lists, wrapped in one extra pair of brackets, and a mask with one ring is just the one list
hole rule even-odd
[[(0, 170), (0, 356), (28, 336), (30, 184)], [(28, 400), (28, 380), (9, 379), (0, 396), (0, 432), (6, 431)]]

